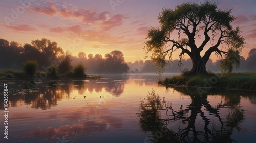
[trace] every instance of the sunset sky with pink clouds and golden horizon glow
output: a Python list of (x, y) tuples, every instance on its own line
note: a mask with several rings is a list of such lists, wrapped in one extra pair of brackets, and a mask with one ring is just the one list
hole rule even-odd
[[(124, 54), (125, 61), (144, 60), (143, 47), (147, 30), (159, 27), (157, 17), (163, 8), (174, 9), (184, 0), (2, 0), (0, 3), (0, 38), (22, 44), (47, 38), (56, 41), (74, 56), (79, 52), (87, 55), (104, 55), (113, 50)], [(205, 2), (191, 1), (196, 3)], [(223, 0), (221, 10), (233, 9), (246, 39), (241, 55), (256, 48), (256, 1)], [(211, 58), (216, 56), (212, 54)], [(185, 56), (184, 58), (188, 58)], [(178, 53), (174, 56), (178, 59)], [(215, 60), (214, 60), (215, 61)]]

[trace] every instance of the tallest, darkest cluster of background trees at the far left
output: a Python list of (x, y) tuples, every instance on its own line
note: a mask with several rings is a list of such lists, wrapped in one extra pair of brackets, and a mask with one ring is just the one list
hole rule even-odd
[(61, 47), (58, 47), (57, 42), (51, 42), (48, 39), (32, 40), (31, 44), (24, 45), (5, 39), (0, 39), (0, 69), (12, 68), (22, 69), (22, 63), (27, 60), (36, 60), (38, 69), (42, 66), (49, 66), (54, 60), (59, 60), (63, 54)]

